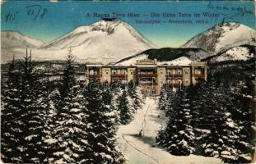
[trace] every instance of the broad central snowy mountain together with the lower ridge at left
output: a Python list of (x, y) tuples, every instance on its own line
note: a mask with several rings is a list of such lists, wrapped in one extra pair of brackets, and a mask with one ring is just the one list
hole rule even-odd
[[(49, 43), (30, 39), (16, 31), (1, 33), (2, 62), (21, 58), (26, 48), (33, 51), (34, 60), (65, 60), (67, 49), (72, 48), (77, 62), (117, 62), (149, 48), (156, 48), (142, 34), (123, 21), (99, 21), (80, 26)], [(22, 43), (22, 44), (21, 44)], [(35, 45), (34, 45), (34, 44)]]

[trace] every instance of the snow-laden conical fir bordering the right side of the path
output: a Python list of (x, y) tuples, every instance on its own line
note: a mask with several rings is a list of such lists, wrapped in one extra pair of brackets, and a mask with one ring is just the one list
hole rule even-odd
[(172, 98), (165, 130), (160, 131), (157, 142), (174, 155), (189, 155), (194, 151), (195, 137), (191, 126), (188, 94), (180, 90)]

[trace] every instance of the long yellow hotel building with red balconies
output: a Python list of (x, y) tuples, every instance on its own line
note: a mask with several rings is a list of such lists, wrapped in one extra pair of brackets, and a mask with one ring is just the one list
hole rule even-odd
[(134, 66), (86, 65), (86, 84), (91, 80), (109, 84), (133, 80), (141, 86), (145, 96), (159, 95), (163, 86), (175, 90), (196, 84), (199, 78), (207, 80), (206, 62), (192, 62), (189, 66), (159, 66), (156, 59), (145, 59), (137, 61)]

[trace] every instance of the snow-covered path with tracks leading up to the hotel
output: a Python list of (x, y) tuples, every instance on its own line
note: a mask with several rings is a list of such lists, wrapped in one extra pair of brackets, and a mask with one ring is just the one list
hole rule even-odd
[[(147, 98), (142, 109), (137, 110), (133, 121), (120, 125), (117, 133), (119, 149), (131, 164), (174, 164), (174, 163), (222, 163), (214, 157), (173, 156), (155, 145), (157, 131), (165, 123), (164, 113), (157, 110), (153, 98)], [(147, 116), (146, 116), (147, 113)], [(146, 116), (146, 117), (145, 117)], [(138, 137), (145, 117), (145, 136)], [(155, 145), (154, 147), (152, 145)]]

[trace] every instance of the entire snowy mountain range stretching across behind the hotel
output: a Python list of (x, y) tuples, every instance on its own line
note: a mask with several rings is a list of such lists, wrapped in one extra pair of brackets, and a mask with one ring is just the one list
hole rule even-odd
[[(14, 36), (7, 38), (7, 33)], [(239, 35), (236, 36), (234, 33)], [(22, 42), (22, 39), (19, 39), (20, 35), (28, 40), (23, 39), (25, 41)], [(31, 38), (19, 31), (1, 32), (1, 36), (5, 36), (2, 42), (3, 57), (12, 58), (12, 54), (23, 53), (26, 48), (32, 48), (36, 60), (64, 60), (67, 48), (72, 48), (77, 59), (82, 62), (117, 63), (134, 57), (157, 58), (160, 62), (177, 60), (179, 57), (183, 57), (182, 59), (186, 61), (201, 61), (225, 53), (231, 48), (239, 48), (241, 45), (255, 46), (254, 35), (256, 35), (255, 30), (237, 22), (228, 22), (212, 26), (189, 39), (180, 48), (157, 48), (131, 25), (117, 20), (101, 20), (91, 25), (78, 26), (49, 43), (43, 43), (38, 39), (32, 39), (31, 43)], [(240, 51), (244, 52), (245, 50), (242, 49), (240, 48)]]

